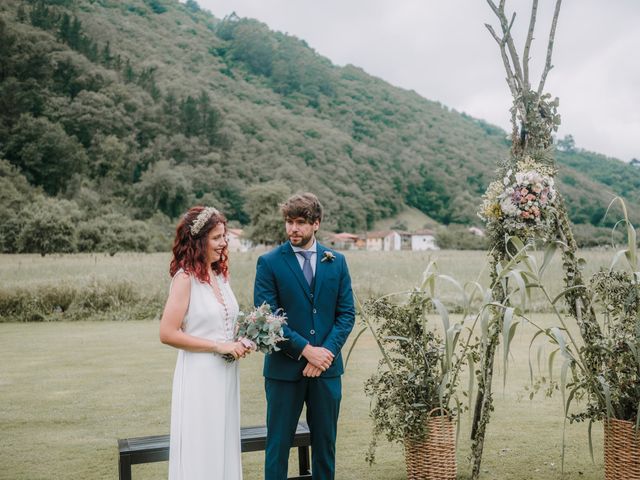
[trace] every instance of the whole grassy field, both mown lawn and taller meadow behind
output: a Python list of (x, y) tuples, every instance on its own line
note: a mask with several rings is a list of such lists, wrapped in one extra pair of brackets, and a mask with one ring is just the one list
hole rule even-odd
[[(583, 254), (587, 275), (608, 266), (613, 257), (611, 251)], [(233, 288), (244, 307), (251, 302), (257, 256), (251, 252), (231, 259)], [(479, 278), (486, 284), (488, 279), (485, 252), (348, 252), (347, 257), (359, 299), (412, 288), (431, 260), (458, 280)], [(117, 478), (118, 438), (168, 432), (176, 352), (158, 341), (168, 260), (168, 254), (0, 256), (0, 479)], [(546, 278), (551, 290), (561, 290), (559, 261)], [(114, 285), (118, 288), (110, 290)], [(65, 309), (42, 310), (64, 292)], [(51, 298), (45, 302), (38, 295)], [(447, 295), (453, 291), (443, 292)], [(83, 303), (87, 296), (92, 300)], [(115, 306), (110, 306), (114, 299)], [(534, 296), (532, 306), (539, 311), (536, 322), (554, 322), (543, 311), (541, 298)], [(18, 307), (31, 308), (29, 315), (40, 321), (24, 322), (27, 317), (16, 313)], [(439, 328), (438, 322), (433, 325)], [(561, 400), (543, 395), (529, 400), (526, 390), (532, 335), (533, 329), (526, 325), (518, 331), (504, 388), (504, 366), (498, 362), (496, 410), (488, 428), (482, 478), (602, 478), (599, 424), (593, 428), (595, 463), (589, 455), (586, 425), (567, 426), (561, 475)], [(365, 462), (371, 424), (363, 382), (375, 371), (378, 359), (372, 337), (365, 334), (343, 379), (337, 449), (340, 480), (406, 478), (399, 445), (381, 439), (377, 462), (373, 466)], [(243, 425), (264, 423), (261, 363), (259, 354), (241, 363)], [(459, 478), (468, 479), (469, 415), (460, 422)], [(243, 462), (245, 479), (262, 477), (260, 452), (244, 454)], [(166, 472), (166, 462), (133, 470), (136, 480), (166, 478)]]

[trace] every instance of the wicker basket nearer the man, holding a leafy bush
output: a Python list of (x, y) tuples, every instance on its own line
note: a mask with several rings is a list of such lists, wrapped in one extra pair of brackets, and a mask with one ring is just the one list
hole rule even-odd
[[(436, 411), (441, 415), (432, 416)], [(456, 434), (453, 418), (440, 408), (427, 416), (426, 437), (406, 439), (407, 480), (455, 480)]]

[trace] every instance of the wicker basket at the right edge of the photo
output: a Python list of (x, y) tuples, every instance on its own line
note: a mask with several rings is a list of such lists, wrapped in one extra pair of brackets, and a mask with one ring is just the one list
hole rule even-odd
[(634, 426), (615, 418), (604, 422), (605, 480), (640, 480), (640, 435)]

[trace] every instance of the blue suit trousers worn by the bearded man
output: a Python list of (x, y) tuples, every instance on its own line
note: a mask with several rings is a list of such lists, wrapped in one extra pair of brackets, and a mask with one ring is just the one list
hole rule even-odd
[(267, 446), (265, 480), (286, 480), (289, 451), (302, 407), (311, 431), (313, 480), (335, 478), (336, 434), (342, 398), (341, 377), (302, 377), (296, 381), (265, 378)]

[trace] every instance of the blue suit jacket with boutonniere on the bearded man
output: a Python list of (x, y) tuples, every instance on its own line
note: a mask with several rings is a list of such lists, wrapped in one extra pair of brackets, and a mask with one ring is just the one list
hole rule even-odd
[(317, 244), (313, 291), (289, 242), (258, 258), (255, 305), (266, 302), (273, 310), (282, 308), (287, 315), (284, 327), (287, 340), (278, 344), (280, 351), (265, 355), (263, 374), (267, 378), (289, 381), (302, 378), (307, 361), (301, 354), (307, 344), (322, 346), (334, 355), (333, 363), (322, 376), (344, 373), (340, 351), (355, 322), (351, 277), (344, 255), (331, 251), (335, 258), (321, 261), (327, 251)]

